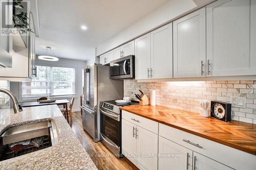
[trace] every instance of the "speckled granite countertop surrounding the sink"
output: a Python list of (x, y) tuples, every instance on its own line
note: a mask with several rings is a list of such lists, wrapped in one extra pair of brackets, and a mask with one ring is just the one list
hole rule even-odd
[(0, 162), (0, 169), (97, 169), (83, 149), (57, 105), (0, 110), (0, 134), (8, 127), (51, 120), (56, 124), (58, 142), (52, 147)]

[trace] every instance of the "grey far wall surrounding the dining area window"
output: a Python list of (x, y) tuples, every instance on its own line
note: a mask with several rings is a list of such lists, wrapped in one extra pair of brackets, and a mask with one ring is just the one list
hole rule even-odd
[[(56, 62), (49, 62), (49, 61), (43, 61), (38, 60), (36, 56), (36, 65), (46, 65), (46, 66), (62, 66), (62, 67), (74, 67), (75, 68), (75, 102), (73, 106), (73, 111), (80, 110), (80, 95), (82, 94), (82, 69), (86, 68), (87, 62), (81, 61), (81, 60), (71, 60), (71, 59), (65, 59), (65, 58), (59, 58), (59, 61)], [(18, 101), (20, 103), (22, 102), (28, 102), (28, 101), (36, 101), (35, 100), (23, 100), (22, 99), (22, 92), (20, 89), (19, 82), (11, 82), (10, 83), (10, 89), (11, 91), (18, 96)], [(71, 100), (70, 98), (65, 98), (68, 100)]]

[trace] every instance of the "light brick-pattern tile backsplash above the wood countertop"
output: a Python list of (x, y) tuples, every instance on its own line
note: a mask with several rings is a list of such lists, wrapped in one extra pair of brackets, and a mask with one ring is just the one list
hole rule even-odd
[(233, 120), (256, 124), (256, 81), (137, 82), (124, 80), (124, 96), (156, 90), (157, 105), (200, 112), (200, 102), (230, 102), (231, 96), (246, 98), (246, 108), (232, 107)]

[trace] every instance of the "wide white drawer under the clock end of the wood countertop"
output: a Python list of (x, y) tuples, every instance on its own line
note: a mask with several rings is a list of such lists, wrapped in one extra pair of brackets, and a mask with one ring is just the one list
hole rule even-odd
[[(254, 169), (256, 156), (224, 144), (159, 124), (159, 135), (235, 169)], [(195, 146), (184, 140), (199, 144)]]

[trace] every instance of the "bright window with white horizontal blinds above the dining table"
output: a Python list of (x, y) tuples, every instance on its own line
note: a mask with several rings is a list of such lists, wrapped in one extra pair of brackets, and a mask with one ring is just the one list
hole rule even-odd
[(67, 67), (36, 66), (37, 77), (23, 82), (22, 97), (75, 94), (75, 69)]

